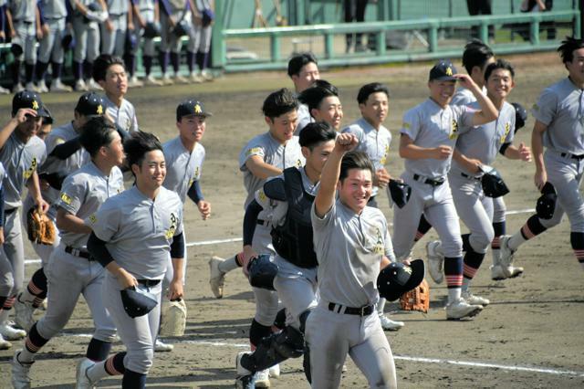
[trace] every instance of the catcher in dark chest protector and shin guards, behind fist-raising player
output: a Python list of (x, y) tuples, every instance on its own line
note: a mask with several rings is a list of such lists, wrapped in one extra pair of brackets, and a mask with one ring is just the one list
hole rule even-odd
[[(287, 310), (283, 331), (261, 340), (255, 352), (237, 357), (237, 382), (250, 386), (253, 374), (304, 352), (305, 373), (310, 382), (310, 359), (305, 350), (304, 331), (310, 311), (317, 306), (317, 258), (312, 243), (309, 209), (318, 192), (322, 166), (332, 151), (336, 131), (325, 122), (308, 123), (299, 143), (306, 158), (304, 167), (289, 167), (264, 184), (247, 205), (244, 219), (244, 268), (257, 255), (252, 247), (257, 216), (272, 213), (272, 242), (277, 276), (274, 288)], [(298, 200), (301, 199), (301, 200)], [(299, 247), (299, 248), (298, 248)], [(278, 347), (277, 345), (281, 345)], [(256, 384), (257, 385), (257, 384)]]

